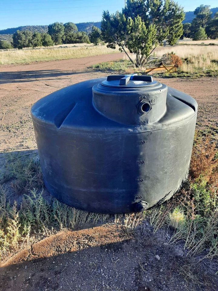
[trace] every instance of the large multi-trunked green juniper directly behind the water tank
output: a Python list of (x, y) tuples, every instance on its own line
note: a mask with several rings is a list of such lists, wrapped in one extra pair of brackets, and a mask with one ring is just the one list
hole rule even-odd
[[(127, 0), (122, 12), (103, 12), (101, 33), (107, 47), (118, 45), (138, 67), (164, 39), (176, 43), (183, 33), (183, 19), (183, 8), (172, 0)], [(135, 61), (129, 52), (136, 55)]]

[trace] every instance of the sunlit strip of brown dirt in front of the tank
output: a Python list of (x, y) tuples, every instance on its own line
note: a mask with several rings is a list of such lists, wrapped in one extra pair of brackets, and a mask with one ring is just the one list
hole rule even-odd
[(31, 247), (0, 264), (9, 266), (25, 260), (32, 261), (40, 258), (57, 256), (63, 253), (76, 252), (93, 246), (121, 241), (121, 229), (115, 225), (99, 226), (78, 231), (63, 231), (34, 243)]

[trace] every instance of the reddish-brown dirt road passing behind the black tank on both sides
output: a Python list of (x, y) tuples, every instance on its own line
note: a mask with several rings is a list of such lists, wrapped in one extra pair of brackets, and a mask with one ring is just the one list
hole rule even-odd
[[(30, 65), (0, 67), (0, 151), (36, 149), (30, 116), (31, 105), (38, 99), (65, 86), (106, 75), (88, 69), (94, 63), (112, 61), (121, 54), (99, 55), (82, 59), (35, 62)], [(218, 126), (217, 78), (158, 79), (184, 91), (199, 104), (198, 124)]]

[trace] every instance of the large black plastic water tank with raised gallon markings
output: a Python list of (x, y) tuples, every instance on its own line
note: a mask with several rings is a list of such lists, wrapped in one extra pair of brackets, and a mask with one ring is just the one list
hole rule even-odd
[(70, 206), (140, 211), (187, 177), (197, 102), (152, 76), (71, 85), (37, 101), (31, 115), (45, 186)]

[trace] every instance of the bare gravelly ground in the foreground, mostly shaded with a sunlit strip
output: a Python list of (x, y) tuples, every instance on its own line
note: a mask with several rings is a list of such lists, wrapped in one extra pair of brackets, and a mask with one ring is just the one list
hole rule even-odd
[(203, 264), (199, 271), (168, 240), (148, 223), (134, 231), (106, 224), (59, 232), (2, 265), (0, 290), (217, 290)]

